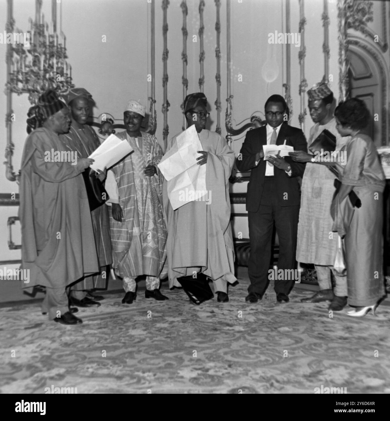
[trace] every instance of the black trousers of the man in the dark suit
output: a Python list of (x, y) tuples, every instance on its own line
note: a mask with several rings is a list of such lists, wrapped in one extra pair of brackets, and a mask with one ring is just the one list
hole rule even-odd
[[(279, 237), (279, 269), (295, 269), (299, 205), (281, 206), (273, 177), (265, 177), (263, 195), (257, 212), (248, 212), (250, 254), (249, 292), (263, 295), (268, 287), (273, 224)], [(280, 193), (281, 194), (281, 193)], [(275, 280), (275, 292), (288, 294), (294, 279)]]

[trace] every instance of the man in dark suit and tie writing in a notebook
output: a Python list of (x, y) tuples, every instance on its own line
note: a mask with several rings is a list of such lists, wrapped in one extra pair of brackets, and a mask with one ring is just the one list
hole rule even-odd
[[(289, 126), (287, 104), (280, 95), (272, 95), (265, 102), (267, 125), (247, 132), (236, 160), (239, 171), (251, 171), (247, 191), (247, 211), (250, 237), (248, 274), (251, 284), (245, 301), (255, 303), (268, 287), (268, 269), (271, 262), (273, 224), (279, 237), (278, 271), (286, 274), (295, 267), (297, 226), (300, 207), (300, 186), (297, 177), (305, 171), (304, 163), (291, 157), (268, 157), (264, 160), (263, 145), (287, 144), (294, 151), (307, 151), (302, 130)], [(283, 277), (287, 278), (287, 277)], [(273, 278), (272, 278), (273, 279)], [(289, 301), (294, 277), (275, 279), (276, 299)]]

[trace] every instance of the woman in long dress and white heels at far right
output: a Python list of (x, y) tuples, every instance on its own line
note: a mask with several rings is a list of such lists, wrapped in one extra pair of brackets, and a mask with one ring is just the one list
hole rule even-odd
[[(339, 104), (334, 115), (339, 133), (351, 138), (341, 148), (347, 160), (340, 165), (342, 185), (331, 207), (333, 231), (344, 237), (348, 304), (355, 307), (348, 315), (361, 317), (369, 310), (375, 312), (385, 295), (382, 274), (385, 174), (374, 142), (360, 133), (369, 121), (364, 102), (348, 99)], [(350, 203), (348, 194), (352, 190), (361, 200), (360, 208), (353, 208)]]

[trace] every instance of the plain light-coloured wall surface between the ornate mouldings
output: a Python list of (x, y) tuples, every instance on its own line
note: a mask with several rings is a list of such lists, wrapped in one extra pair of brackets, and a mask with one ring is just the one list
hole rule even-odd
[[(66, 47), (69, 63), (72, 64), (72, 76), (77, 86), (87, 88), (96, 101), (94, 115), (109, 112), (121, 122), (123, 109), (129, 99), (139, 99), (145, 105), (150, 95), (150, 83), (147, 75), (150, 71), (150, 12), (151, 3), (147, 0), (61, 0), (62, 24), (66, 34)], [(46, 20), (50, 16), (50, 1), (43, 0), (43, 12)], [(169, 137), (178, 133), (183, 124), (180, 104), (183, 101), (182, 85), (182, 21), (181, 0), (170, 0), (167, 9), (168, 32), (167, 48), (169, 58), (168, 68), (168, 111)], [(290, 32), (298, 32), (300, 27), (300, 2), (290, 0)], [(387, 27), (382, 22), (382, 2), (374, 2), (374, 21), (369, 23), (371, 29), (388, 39), (389, 18), (386, 13)], [(338, 19), (337, 1), (328, 0), (329, 16), (329, 75), (330, 86), (336, 99), (339, 97), (339, 63), (338, 63)], [(199, 1), (187, 0), (187, 54), (188, 54), (188, 93), (199, 91)], [(233, 98), (233, 125), (248, 119), (253, 113), (263, 117), (265, 100), (273, 93), (284, 95), (283, 83), (287, 81), (287, 72), (291, 78), (292, 120), (291, 124), (300, 126), (298, 116), (301, 110), (300, 63), (298, 53), (300, 48), (290, 46), (291, 67), (287, 69), (287, 46), (284, 44), (269, 44), (268, 34), (286, 32), (287, 0), (231, 0), (231, 93)], [(308, 88), (319, 82), (324, 75), (324, 27), (322, 14), (323, 0), (306, 0), (303, 3), (305, 18), (304, 62), (305, 79)], [(0, 24), (5, 28), (6, 2), (0, 2)], [(22, 30), (28, 28), (28, 18), (34, 17), (34, 2), (31, 0), (14, 0), (14, 16), (16, 26)], [(204, 93), (210, 103), (210, 129), (216, 128), (215, 100), (217, 98), (216, 74), (216, 5), (213, 0), (205, 0), (204, 7)], [(226, 136), (225, 111), (227, 97), (226, 76), (226, 0), (221, 1), (221, 128)], [(155, 2), (156, 29), (156, 136), (162, 144), (162, 76), (163, 76), (163, 10), (162, 1)], [(353, 36), (360, 37), (377, 48), (374, 42), (360, 32), (350, 30)], [(102, 36), (106, 35), (106, 42)], [(193, 42), (193, 35), (197, 36)], [(380, 53), (386, 68), (390, 66), (389, 51)], [(265, 70), (268, 70), (265, 73)], [(5, 84), (5, 45), (0, 45), (0, 85)], [(388, 73), (388, 72), (387, 72)], [(241, 76), (240, 76), (241, 75)], [(241, 81), (242, 78), (242, 81)], [(389, 87), (389, 84), (387, 84)], [(304, 108), (307, 107), (307, 94), (304, 93)], [(387, 92), (387, 100), (389, 94)], [(5, 115), (5, 96), (0, 98), (0, 111)], [(29, 107), (27, 95), (13, 95), (13, 109), (16, 121), (13, 123), (13, 142), (15, 151), (13, 157), (14, 170), (20, 166), (21, 148), (26, 138), (26, 113)], [(305, 135), (308, 136), (312, 125), (309, 115), (304, 119)], [(242, 125), (242, 123), (240, 124)], [(241, 148), (245, 133), (236, 136), (233, 148), (236, 153)], [(5, 150), (5, 125), (0, 124), (0, 149)], [(0, 171), (2, 193), (17, 191), (15, 182), (5, 179), (5, 167)], [(233, 192), (245, 192), (246, 183), (235, 184)], [(234, 212), (244, 213), (245, 205), (234, 205)], [(0, 227), (4, 233), (0, 240), (0, 260), (20, 258), (20, 250), (8, 250), (5, 235), (6, 221), (9, 216), (15, 216), (16, 207), (0, 208)], [(17, 225), (17, 224), (16, 224)], [(18, 227), (13, 227), (15, 242), (19, 243)], [(236, 218), (234, 223), (235, 237), (242, 232), (248, 237), (247, 219)]]

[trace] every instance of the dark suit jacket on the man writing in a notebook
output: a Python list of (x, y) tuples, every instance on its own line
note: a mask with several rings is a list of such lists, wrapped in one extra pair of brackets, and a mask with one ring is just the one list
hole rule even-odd
[[(282, 123), (276, 144), (284, 144), (285, 139), (287, 140), (286, 144), (294, 147), (294, 150), (307, 152), (308, 144), (301, 129)], [(241, 147), (241, 155), (236, 160), (239, 171), (252, 170), (247, 191), (247, 210), (250, 212), (256, 212), (259, 209), (263, 195), (267, 161), (262, 158), (256, 166), (255, 155), (263, 150), (263, 145), (266, 144), (266, 126), (249, 130)], [(300, 205), (300, 186), (297, 177), (303, 176), (306, 164), (294, 162), (292, 157), (284, 157), (284, 159), (291, 165), (292, 174), (289, 176), (284, 170), (273, 168), (276, 181), (275, 195), (277, 195), (281, 206)]]

